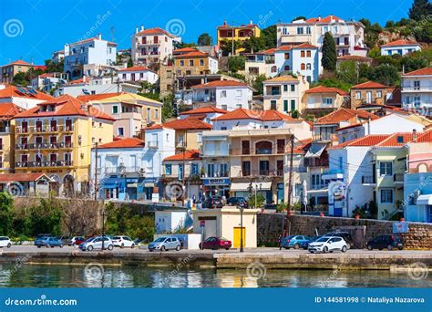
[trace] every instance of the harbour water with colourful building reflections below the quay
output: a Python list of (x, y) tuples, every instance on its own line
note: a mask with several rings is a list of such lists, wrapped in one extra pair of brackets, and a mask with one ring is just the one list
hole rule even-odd
[[(101, 276), (101, 278), (99, 278)], [(85, 265), (0, 265), (0, 287), (430, 287), (389, 271), (267, 270), (252, 277), (246, 270), (185, 269), (104, 265), (88, 276)]]

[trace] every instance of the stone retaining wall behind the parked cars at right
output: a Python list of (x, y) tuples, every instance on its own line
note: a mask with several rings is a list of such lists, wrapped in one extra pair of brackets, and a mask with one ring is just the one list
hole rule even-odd
[[(282, 222), (286, 216), (281, 213), (262, 213), (258, 215), (258, 244), (274, 244), (282, 233)], [(310, 215), (290, 215), (289, 233), (304, 235), (325, 234), (335, 229), (364, 229), (364, 241), (379, 234), (392, 234), (392, 221), (320, 217)], [(409, 232), (403, 234), (406, 248), (432, 248), (432, 224), (408, 223)]]

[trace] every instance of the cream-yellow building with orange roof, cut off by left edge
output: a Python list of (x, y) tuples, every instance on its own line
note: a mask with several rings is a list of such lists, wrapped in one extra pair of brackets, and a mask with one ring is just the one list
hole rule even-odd
[(13, 103), (0, 103), (0, 173), (12, 172), (15, 141), (12, 118), (23, 110)]

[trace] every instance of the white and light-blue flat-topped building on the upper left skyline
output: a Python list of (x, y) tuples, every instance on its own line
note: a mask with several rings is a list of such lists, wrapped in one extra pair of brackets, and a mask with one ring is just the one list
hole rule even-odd
[[(117, 44), (101, 35), (65, 45), (64, 72), (73, 80), (87, 74), (85, 67), (111, 68), (116, 62)], [(90, 69), (88, 69), (90, 70)]]

